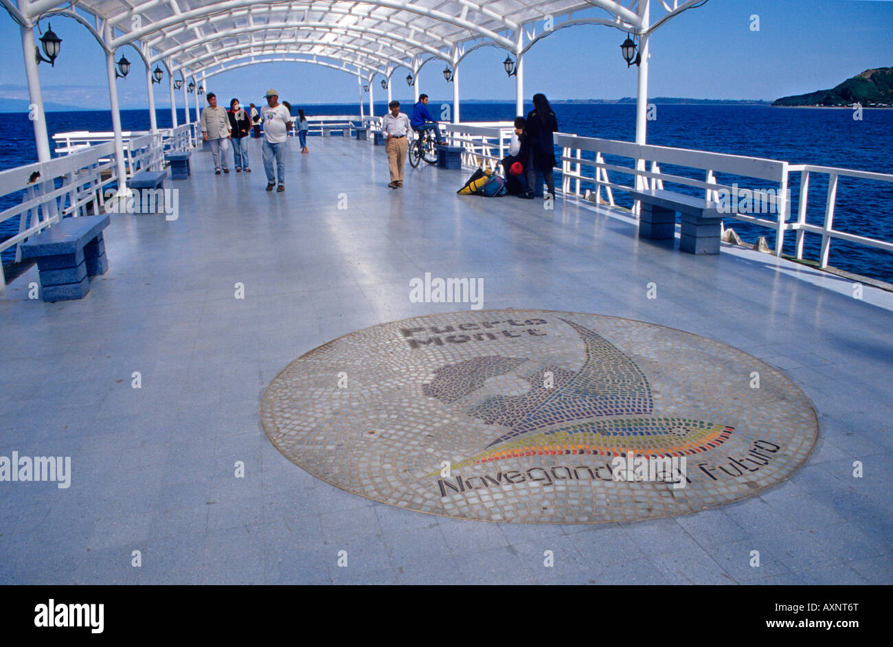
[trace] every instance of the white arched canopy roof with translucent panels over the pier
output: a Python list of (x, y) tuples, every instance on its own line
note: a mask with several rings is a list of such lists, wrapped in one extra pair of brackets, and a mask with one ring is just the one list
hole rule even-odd
[[(701, 0), (659, 0), (664, 14), (652, 25), (643, 21), (638, 0), (20, 0), (18, 9), (11, 0), (0, 1), (23, 24), (56, 14), (82, 19), (87, 13), (106, 51), (133, 45), (147, 62), (166, 63), (184, 78), (276, 54), (347, 63), (369, 78), (389, 77), (399, 67), (418, 71), (436, 58), (455, 64), (480, 46), (520, 55), (572, 24), (645, 34)], [(573, 18), (594, 8), (600, 11)]]

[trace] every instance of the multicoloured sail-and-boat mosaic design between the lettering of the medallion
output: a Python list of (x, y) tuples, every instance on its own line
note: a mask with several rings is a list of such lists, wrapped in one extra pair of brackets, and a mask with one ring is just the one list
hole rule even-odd
[[(490, 396), (467, 409), (474, 418), (508, 431), (455, 467), (558, 454), (688, 456), (719, 446), (734, 432), (704, 420), (652, 416), (651, 386), (636, 363), (592, 330), (561, 320), (583, 342), (580, 370), (544, 366), (524, 376), (530, 383), (527, 393)], [(509, 374), (527, 361), (488, 356), (450, 364), (438, 369), (422, 392), (441, 402), (456, 402), (484, 386), (489, 377)], [(547, 371), (553, 376), (551, 388), (545, 386)]]

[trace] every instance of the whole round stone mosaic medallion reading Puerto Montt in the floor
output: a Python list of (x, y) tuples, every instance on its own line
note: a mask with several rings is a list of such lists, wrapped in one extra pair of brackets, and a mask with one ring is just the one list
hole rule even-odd
[(263, 427), (316, 477), (448, 517), (630, 521), (788, 477), (818, 434), (768, 364), (653, 324), (466, 311), (365, 328), (306, 353)]

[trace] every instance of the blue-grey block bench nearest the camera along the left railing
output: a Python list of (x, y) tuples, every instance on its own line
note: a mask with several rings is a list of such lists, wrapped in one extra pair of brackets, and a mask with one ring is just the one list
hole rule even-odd
[(22, 259), (36, 259), (41, 297), (45, 302), (82, 299), (90, 291), (90, 277), (104, 274), (103, 216), (64, 218), (20, 245)]

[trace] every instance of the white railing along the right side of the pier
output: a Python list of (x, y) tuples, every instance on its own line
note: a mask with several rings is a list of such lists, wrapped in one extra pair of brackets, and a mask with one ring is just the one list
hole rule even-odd
[[(494, 123), (441, 123), (451, 145), (463, 148), (464, 166), (482, 166), (497, 169), (505, 157), (513, 129), (511, 122)], [(614, 192), (629, 192), (633, 188), (658, 188), (664, 185), (694, 187), (703, 191), (705, 201), (718, 202), (731, 199), (743, 191), (753, 195), (752, 204), (759, 206), (753, 213), (730, 209), (730, 219), (742, 220), (765, 228), (776, 234), (776, 255), (781, 255), (785, 234), (797, 236), (796, 258), (803, 260), (805, 234), (822, 236), (819, 265), (828, 266), (831, 239), (846, 240), (857, 245), (868, 245), (893, 252), (893, 242), (872, 236), (861, 236), (833, 228), (834, 210), (837, 203), (839, 178), (862, 178), (883, 183), (893, 188), (893, 175), (862, 170), (839, 169), (808, 164), (792, 165), (789, 162), (742, 155), (709, 153), (686, 148), (638, 145), (612, 139), (579, 137), (555, 133), (555, 145), (562, 149), (560, 166), (556, 168), (561, 184), (556, 187), (565, 196), (576, 196), (612, 207)], [(610, 160), (605, 161), (605, 158)], [(625, 162), (625, 163), (624, 163)], [(680, 167), (670, 173), (661, 167)], [(796, 203), (790, 197), (792, 173), (800, 174), (800, 190)], [(717, 174), (734, 176), (733, 184), (722, 184)], [(821, 226), (806, 222), (810, 178), (821, 174), (828, 177), (824, 218)], [(622, 178), (618, 178), (622, 176)], [(738, 178), (742, 178), (740, 181)], [(624, 181), (620, 181), (623, 179)], [(690, 192), (690, 189), (689, 189)], [(758, 199), (757, 199), (758, 198)], [(638, 214), (638, 201), (630, 199), (630, 212)], [(725, 204), (729, 204), (726, 202)], [(796, 213), (796, 220), (789, 220)]]

